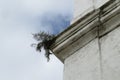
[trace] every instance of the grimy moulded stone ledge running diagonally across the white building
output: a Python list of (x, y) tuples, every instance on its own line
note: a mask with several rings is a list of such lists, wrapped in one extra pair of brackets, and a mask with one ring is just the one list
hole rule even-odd
[(99, 17), (102, 23), (99, 30), (101, 37), (120, 25), (120, 1), (116, 1), (109, 1), (60, 33), (51, 47), (53, 53), (64, 63), (67, 57), (95, 39), (100, 26)]

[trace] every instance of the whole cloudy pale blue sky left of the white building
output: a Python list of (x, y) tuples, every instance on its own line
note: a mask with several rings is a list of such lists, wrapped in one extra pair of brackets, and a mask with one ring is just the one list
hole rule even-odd
[(30, 45), (33, 33), (67, 28), (72, 8), (72, 0), (0, 0), (0, 80), (63, 80), (63, 64)]

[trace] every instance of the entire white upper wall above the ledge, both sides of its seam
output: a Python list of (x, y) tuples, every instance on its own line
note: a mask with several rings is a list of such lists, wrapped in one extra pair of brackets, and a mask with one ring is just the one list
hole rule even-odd
[(73, 20), (71, 23), (74, 23), (90, 11), (98, 9), (108, 1), (109, 0), (74, 0)]

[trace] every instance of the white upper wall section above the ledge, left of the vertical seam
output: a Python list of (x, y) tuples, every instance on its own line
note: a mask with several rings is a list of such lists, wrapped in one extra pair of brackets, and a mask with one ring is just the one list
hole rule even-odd
[(73, 22), (93, 10), (92, 0), (74, 0)]

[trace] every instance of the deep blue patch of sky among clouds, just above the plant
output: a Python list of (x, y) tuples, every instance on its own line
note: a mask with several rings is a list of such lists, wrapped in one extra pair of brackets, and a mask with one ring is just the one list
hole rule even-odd
[(41, 25), (45, 28), (50, 27), (54, 34), (58, 34), (63, 31), (70, 24), (70, 15), (62, 15), (59, 13), (46, 13), (40, 20)]

